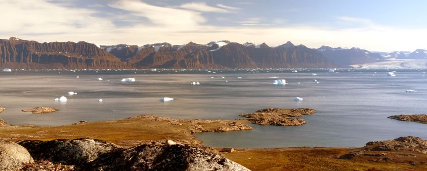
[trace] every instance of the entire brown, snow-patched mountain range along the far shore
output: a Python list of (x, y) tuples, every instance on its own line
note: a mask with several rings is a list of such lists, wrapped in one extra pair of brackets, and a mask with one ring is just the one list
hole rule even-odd
[(291, 42), (269, 47), (265, 43), (239, 44), (226, 40), (207, 44), (97, 46), (83, 41), (39, 43), (15, 37), (0, 39), (0, 67), (12, 69), (331, 68), (387, 58), (427, 58), (427, 51), (381, 55), (359, 48), (312, 49)]

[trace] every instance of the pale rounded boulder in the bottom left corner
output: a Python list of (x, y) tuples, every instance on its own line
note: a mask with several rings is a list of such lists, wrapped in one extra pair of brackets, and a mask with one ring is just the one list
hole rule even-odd
[(23, 146), (6, 140), (0, 140), (0, 170), (21, 168), (22, 163), (34, 162)]

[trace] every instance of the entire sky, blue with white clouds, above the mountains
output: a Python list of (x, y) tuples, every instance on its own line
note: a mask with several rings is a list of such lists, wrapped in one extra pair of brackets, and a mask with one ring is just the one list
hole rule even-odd
[(427, 1), (0, 0), (0, 39), (427, 49)]

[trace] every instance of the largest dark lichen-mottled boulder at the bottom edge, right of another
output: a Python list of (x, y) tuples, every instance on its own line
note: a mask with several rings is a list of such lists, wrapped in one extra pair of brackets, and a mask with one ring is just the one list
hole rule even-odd
[(88, 163), (87, 170), (249, 170), (218, 154), (186, 144), (139, 145), (111, 151)]

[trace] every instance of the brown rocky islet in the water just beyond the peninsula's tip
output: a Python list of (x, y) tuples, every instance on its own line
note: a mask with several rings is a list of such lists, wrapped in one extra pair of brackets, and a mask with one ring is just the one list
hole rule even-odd
[(241, 114), (239, 116), (246, 117), (246, 120), (258, 125), (279, 125), (279, 126), (297, 126), (304, 125), (306, 121), (300, 118), (303, 115), (311, 115), (315, 113), (314, 109), (277, 109), (267, 108), (256, 111), (255, 113)]

